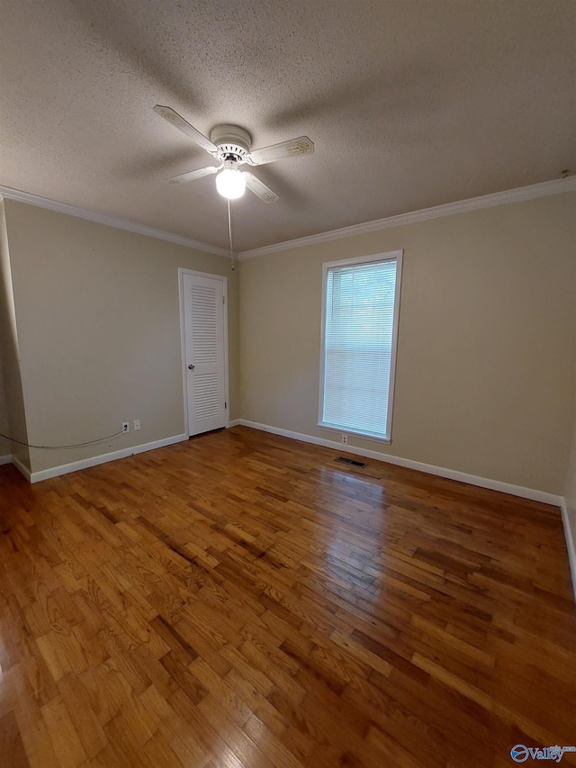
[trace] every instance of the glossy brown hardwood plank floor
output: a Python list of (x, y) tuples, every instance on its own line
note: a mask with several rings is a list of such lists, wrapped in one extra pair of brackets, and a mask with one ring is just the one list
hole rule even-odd
[(0, 763), (576, 745), (559, 510), (336, 456), (236, 427), (32, 486), (0, 467)]

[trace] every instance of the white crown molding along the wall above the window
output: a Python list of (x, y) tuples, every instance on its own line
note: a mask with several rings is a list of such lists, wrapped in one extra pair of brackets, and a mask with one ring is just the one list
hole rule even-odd
[(310, 235), (306, 238), (285, 240), (284, 242), (275, 243), (275, 245), (267, 245), (263, 248), (252, 248), (251, 250), (245, 250), (239, 253), (238, 260), (243, 261), (246, 258), (266, 256), (290, 248), (303, 248), (304, 246), (315, 245), (316, 243), (325, 243), (330, 240), (349, 238), (353, 235), (365, 234), (365, 232), (386, 230), (389, 227), (400, 227), (402, 224), (413, 224), (416, 221), (427, 221), (428, 219), (437, 219), (441, 216), (451, 216), (454, 213), (478, 211), (482, 208), (492, 208), (495, 205), (520, 203), (524, 200), (533, 200), (536, 197), (547, 197), (551, 194), (574, 191), (576, 191), (576, 176), (555, 179), (554, 181), (545, 181), (541, 184), (520, 186), (517, 189), (509, 189), (505, 192), (484, 194), (482, 197), (470, 197), (467, 200), (459, 200), (457, 203), (436, 205), (433, 208), (424, 208), (421, 211), (400, 213), (398, 216), (389, 216), (386, 219), (377, 219), (376, 221), (366, 221), (364, 224), (353, 224), (351, 227), (343, 227), (340, 230), (321, 232), (318, 235)]

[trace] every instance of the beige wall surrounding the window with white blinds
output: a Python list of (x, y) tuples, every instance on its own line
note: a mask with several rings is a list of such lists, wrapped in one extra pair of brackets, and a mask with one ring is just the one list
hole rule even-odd
[(576, 412), (576, 194), (240, 264), (242, 418), (318, 438), (323, 261), (404, 248), (392, 445), (351, 445), (562, 494)]

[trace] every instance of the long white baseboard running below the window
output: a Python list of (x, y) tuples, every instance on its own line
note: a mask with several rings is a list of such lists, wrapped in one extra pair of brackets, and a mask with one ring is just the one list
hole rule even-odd
[(491, 491), (510, 493), (512, 496), (519, 496), (522, 499), (531, 499), (532, 501), (542, 501), (545, 504), (554, 504), (555, 507), (560, 507), (563, 500), (562, 496), (557, 496), (554, 493), (536, 491), (534, 488), (525, 488), (522, 485), (502, 483), (500, 480), (491, 480), (489, 477), (479, 477), (476, 474), (466, 474), (465, 472), (458, 472), (455, 469), (446, 469), (444, 466), (423, 464), (422, 462), (412, 461), (412, 459), (403, 458), (402, 456), (391, 456), (390, 454), (378, 453), (378, 451), (371, 451), (366, 448), (358, 448), (355, 446), (343, 446), (341, 443), (336, 442), (336, 440), (314, 438), (311, 435), (304, 435), (301, 432), (292, 432), (289, 429), (279, 429), (278, 427), (270, 427), (267, 424), (259, 424), (257, 421), (240, 419), (239, 423), (244, 427), (260, 429), (263, 432), (272, 432), (275, 435), (282, 435), (284, 438), (302, 440), (304, 443), (312, 443), (316, 446), (334, 448), (334, 450), (356, 454), (356, 456), (375, 458), (378, 459), (378, 461), (385, 461), (388, 464), (404, 466), (408, 469), (417, 469), (419, 472), (427, 472), (428, 474), (437, 474), (438, 477), (446, 477), (449, 480), (457, 480), (460, 483), (470, 483), (470, 485), (477, 485), (480, 488), (489, 488)]

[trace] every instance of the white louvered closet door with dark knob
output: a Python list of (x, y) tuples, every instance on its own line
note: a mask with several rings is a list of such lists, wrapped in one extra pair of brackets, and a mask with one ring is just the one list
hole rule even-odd
[(188, 434), (228, 424), (222, 280), (183, 275)]

